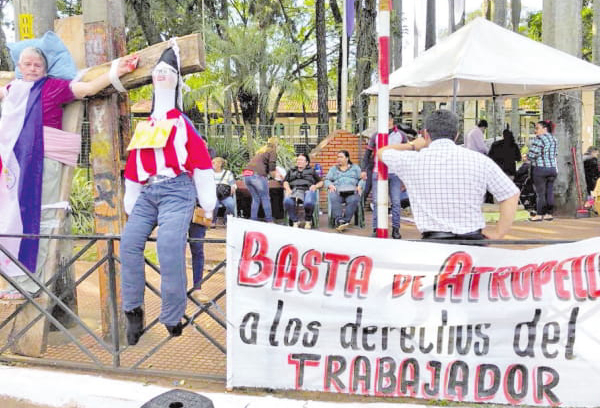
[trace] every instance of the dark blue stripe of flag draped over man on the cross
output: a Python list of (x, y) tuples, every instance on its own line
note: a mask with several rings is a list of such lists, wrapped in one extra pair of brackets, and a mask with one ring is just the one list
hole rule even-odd
[[(35, 82), (27, 99), (25, 121), (13, 151), (19, 163), (19, 206), (23, 234), (39, 234), (42, 208), (42, 178), (44, 173), (44, 140), (42, 137), (42, 87), (46, 78)], [(37, 136), (36, 136), (37, 135)], [(19, 261), (35, 272), (39, 240), (23, 239)]]

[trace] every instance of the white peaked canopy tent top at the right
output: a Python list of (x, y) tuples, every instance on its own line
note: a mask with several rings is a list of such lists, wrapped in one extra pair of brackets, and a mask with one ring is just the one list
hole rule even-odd
[[(600, 67), (477, 18), (390, 75), (390, 98), (485, 99), (600, 87)], [(378, 85), (364, 93), (377, 95)]]

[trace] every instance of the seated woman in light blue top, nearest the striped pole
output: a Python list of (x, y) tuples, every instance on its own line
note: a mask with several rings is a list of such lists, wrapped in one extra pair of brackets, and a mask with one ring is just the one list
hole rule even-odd
[[(340, 150), (337, 154), (337, 165), (332, 166), (325, 178), (325, 187), (331, 203), (331, 216), (338, 232), (350, 226), (350, 220), (358, 208), (363, 183), (360, 167), (352, 164), (350, 153)], [(343, 204), (346, 207), (343, 208)]]

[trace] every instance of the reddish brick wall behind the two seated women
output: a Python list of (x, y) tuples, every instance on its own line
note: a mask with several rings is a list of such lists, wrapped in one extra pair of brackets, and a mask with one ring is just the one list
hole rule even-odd
[[(310, 163), (312, 166), (319, 163), (323, 169), (323, 177), (325, 177), (329, 168), (337, 164), (337, 153), (340, 150), (348, 150), (352, 163), (360, 166), (367, 142), (368, 138), (366, 137), (361, 138), (346, 130), (336, 130), (310, 152)], [(360, 144), (362, 145), (359, 146)], [(325, 191), (324, 188), (322, 191)], [(322, 211), (327, 211), (327, 194), (321, 193), (320, 198)]]

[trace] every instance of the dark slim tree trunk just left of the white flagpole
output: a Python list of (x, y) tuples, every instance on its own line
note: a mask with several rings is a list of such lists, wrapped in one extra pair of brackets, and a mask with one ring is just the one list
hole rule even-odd
[(329, 134), (329, 109), (327, 107), (327, 32), (325, 28), (325, 2), (317, 0), (316, 5), (317, 27), (317, 106), (318, 106), (318, 141), (320, 142)]

